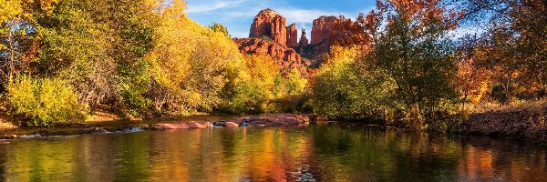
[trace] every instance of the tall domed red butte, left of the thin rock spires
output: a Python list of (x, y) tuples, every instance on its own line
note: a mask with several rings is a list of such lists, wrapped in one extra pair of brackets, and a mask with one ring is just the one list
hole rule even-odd
[(286, 19), (272, 9), (262, 10), (254, 17), (249, 37), (268, 36), (277, 44), (286, 45)]

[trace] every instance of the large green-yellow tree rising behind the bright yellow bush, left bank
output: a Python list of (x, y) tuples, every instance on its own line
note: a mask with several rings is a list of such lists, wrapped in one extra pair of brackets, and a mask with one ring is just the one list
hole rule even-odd
[(89, 106), (104, 102), (137, 111), (149, 105), (150, 63), (144, 58), (153, 46), (157, 2), (39, 3), (55, 7), (32, 6), (40, 76), (67, 80)]

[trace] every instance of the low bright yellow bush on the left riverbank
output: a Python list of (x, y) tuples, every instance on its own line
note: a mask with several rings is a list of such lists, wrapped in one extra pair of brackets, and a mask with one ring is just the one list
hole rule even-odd
[(56, 126), (85, 119), (74, 88), (58, 78), (17, 76), (7, 86), (7, 99), (17, 126)]

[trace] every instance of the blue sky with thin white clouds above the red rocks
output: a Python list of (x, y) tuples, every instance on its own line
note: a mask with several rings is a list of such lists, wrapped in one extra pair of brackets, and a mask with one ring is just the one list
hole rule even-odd
[[(310, 39), (312, 21), (321, 15), (356, 17), (368, 13), (375, 0), (187, 0), (186, 12), (201, 25), (213, 22), (226, 25), (234, 37), (247, 37), (254, 16), (265, 8), (284, 15), (287, 25), (296, 23), (306, 29)], [(300, 31), (298, 31), (300, 36)]]

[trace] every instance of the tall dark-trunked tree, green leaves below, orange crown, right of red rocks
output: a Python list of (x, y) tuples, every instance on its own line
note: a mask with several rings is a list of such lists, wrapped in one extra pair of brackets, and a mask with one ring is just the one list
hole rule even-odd
[(387, 13), (387, 22), (375, 35), (369, 59), (395, 80), (397, 100), (418, 122), (413, 126), (423, 126), (423, 114), (453, 96), (456, 65), (448, 32), (461, 14), (439, 0), (386, 0), (378, 8)]

